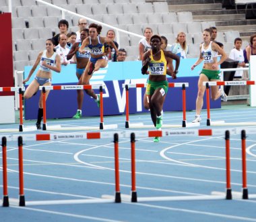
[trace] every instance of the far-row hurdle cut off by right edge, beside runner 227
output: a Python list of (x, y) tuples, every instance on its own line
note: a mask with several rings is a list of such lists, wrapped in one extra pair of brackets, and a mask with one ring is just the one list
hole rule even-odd
[(243, 81), (214, 81), (203, 82), (203, 86), (206, 87), (206, 107), (207, 107), (207, 121), (206, 125), (256, 125), (256, 122), (243, 122), (243, 123), (225, 123), (225, 121), (211, 121), (210, 117), (210, 86), (241, 86), (241, 85), (255, 85), (255, 81), (243, 80)]

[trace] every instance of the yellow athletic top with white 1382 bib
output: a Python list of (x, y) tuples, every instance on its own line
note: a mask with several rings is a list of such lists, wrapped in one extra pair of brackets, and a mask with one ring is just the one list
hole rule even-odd
[(164, 56), (164, 51), (160, 50), (161, 52), (161, 58), (160, 60), (154, 60), (152, 50), (150, 51), (150, 74), (152, 75), (166, 75), (167, 70), (167, 61)]

